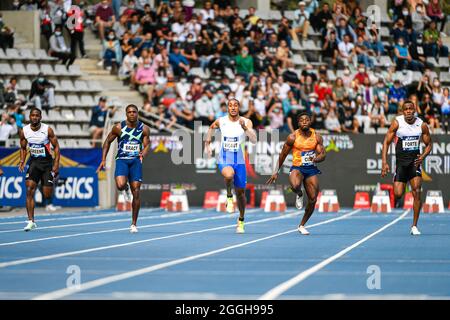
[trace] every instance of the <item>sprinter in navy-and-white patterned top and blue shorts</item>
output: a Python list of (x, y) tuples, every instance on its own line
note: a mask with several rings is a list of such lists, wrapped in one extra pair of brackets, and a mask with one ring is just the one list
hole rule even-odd
[[(116, 156), (116, 186), (125, 193), (128, 200), (128, 190), (131, 187), (133, 194), (132, 211), (133, 218), (130, 232), (136, 233), (137, 219), (141, 207), (140, 189), (142, 183), (142, 159), (148, 154), (150, 146), (150, 130), (142, 122), (138, 121), (138, 108), (134, 104), (126, 107), (126, 121), (116, 124), (103, 144), (103, 156), (97, 172), (102, 170), (106, 164), (111, 143), (117, 139), (118, 151)], [(128, 183), (130, 186), (128, 186)], [(131, 199), (129, 199), (131, 200)]]

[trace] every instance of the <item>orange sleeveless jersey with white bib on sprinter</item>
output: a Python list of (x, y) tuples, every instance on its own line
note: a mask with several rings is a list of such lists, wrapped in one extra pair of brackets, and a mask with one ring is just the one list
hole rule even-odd
[(292, 147), (292, 166), (315, 166), (312, 161), (316, 156), (316, 132), (314, 129), (311, 130), (310, 137), (304, 137), (300, 133), (300, 129), (295, 130), (295, 142)]

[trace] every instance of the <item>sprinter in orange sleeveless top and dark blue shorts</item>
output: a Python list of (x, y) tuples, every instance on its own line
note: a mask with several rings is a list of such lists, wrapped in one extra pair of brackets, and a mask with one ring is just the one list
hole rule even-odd
[(301, 189), (302, 183), (305, 187), (308, 196), (308, 204), (306, 205), (305, 214), (300, 222), (298, 231), (303, 234), (309, 234), (305, 228), (317, 201), (319, 194), (319, 179), (320, 170), (317, 168), (317, 163), (325, 160), (325, 148), (323, 147), (323, 140), (321, 135), (314, 129), (311, 129), (311, 115), (307, 112), (302, 112), (298, 116), (299, 129), (291, 133), (278, 158), (277, 171), (267, 181), (268, 184), (274, 183), (283, 166), (284, 160), (292, 150), (292, 167), (289, 173), (289, 182), (291, 189), (297, 194), (295, 206), (297, 209), (303, 207), (303, 192)]

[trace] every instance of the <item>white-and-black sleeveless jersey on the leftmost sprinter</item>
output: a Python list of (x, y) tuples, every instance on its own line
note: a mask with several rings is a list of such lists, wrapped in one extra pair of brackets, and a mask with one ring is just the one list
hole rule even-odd
[(34, 131), (31, 125), (23, 127), (23, 134), (28, 142), (30, 161), (52, 160), (50, 141), (48, 140), (48, 125), (41, 123), (39, 130)]

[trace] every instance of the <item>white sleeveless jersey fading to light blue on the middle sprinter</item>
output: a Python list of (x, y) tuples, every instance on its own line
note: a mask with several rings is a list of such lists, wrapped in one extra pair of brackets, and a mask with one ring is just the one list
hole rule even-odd
[(238, 121), (231, 121), (227, 116), (219, 118), (222, 134), (219, 163), (245, 164), (245, 131)]

